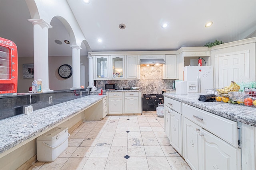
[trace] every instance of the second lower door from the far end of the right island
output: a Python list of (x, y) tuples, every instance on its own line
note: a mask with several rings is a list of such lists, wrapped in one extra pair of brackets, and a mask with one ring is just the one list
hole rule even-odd
[(171, 110), (170, 119), (170, 143), (182, 155), (182, 116), (180, 113)]

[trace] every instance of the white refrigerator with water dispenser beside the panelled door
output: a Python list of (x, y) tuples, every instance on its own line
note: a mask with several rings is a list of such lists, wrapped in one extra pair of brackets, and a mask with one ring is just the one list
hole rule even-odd
[(206, 89), (213, 89), (213, 66), (185, 66), (184, 81), (188, 93), (206, 93)]

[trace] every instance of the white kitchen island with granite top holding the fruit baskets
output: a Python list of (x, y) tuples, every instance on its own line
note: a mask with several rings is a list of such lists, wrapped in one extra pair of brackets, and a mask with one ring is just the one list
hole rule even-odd
[(201, 102), (200, 95), (164, 94), (170, 143), (192, 169), (256, 169), (256, 107)]

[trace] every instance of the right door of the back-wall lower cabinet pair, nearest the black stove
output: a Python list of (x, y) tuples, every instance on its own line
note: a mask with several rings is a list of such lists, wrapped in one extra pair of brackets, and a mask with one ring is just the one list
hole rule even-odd
[(138, 97), (125, 97), (124, 99), (125, 113), (139, 113), (139, 98)]

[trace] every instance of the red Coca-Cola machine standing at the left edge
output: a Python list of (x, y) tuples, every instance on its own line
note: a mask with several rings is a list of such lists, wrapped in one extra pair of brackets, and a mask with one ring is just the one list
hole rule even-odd
[(17, 95), (18, 55), (17, 46), (0, 37), (0, 96)]

